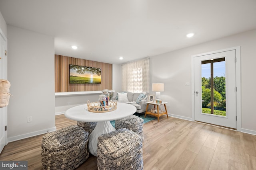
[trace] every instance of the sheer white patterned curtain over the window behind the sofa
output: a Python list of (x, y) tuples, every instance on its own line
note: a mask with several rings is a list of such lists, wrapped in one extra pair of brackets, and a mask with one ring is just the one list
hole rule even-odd
[(122, 65), (122, 90), (149, 92), (149, 58)]

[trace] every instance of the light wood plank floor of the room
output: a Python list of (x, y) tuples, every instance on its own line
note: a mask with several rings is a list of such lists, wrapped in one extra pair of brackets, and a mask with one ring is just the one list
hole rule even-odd
[[(76, 121), (56, 116), (60, 129)], [(0, 160), (27, 160), (29, 170), (40, 170), (43, 135), (8, 143)], [(174, 117), (161, 116), (144, 124), (144, 170), (256, 170), (256, 136)], [(90, 154), (78, 170), (96, 170)]]

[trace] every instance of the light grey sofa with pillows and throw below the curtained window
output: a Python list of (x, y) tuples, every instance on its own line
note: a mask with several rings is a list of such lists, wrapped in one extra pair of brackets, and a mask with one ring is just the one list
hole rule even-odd
[[(119, 94), (119, 96), (118, 96)], [(127, 97), (126, 97), (127, 94)], [(140, 98), (138, 99), (138, 97)], [(116, 98), (117, 102), (128, 103), (136, 107), (136, 113), (143, 113), (146, 111), (147, 104), (145, 102), (148, 101), (148, 92), (142, 93), (132, 93), (132, 92), (118, 92)]]

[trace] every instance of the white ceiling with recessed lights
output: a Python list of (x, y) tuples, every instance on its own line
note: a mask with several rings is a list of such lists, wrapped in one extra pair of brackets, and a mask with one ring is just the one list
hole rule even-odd
[(256, 0), (0, 0), (0, 12), (54, 37), (55, 54), (116, 64), (256, 29)]

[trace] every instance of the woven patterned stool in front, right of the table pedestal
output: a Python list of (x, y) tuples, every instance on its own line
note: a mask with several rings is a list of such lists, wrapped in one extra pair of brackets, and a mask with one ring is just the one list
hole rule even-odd
[(99, 170), (143, 170), (142, 137), (118, 129), (98, 138)]

